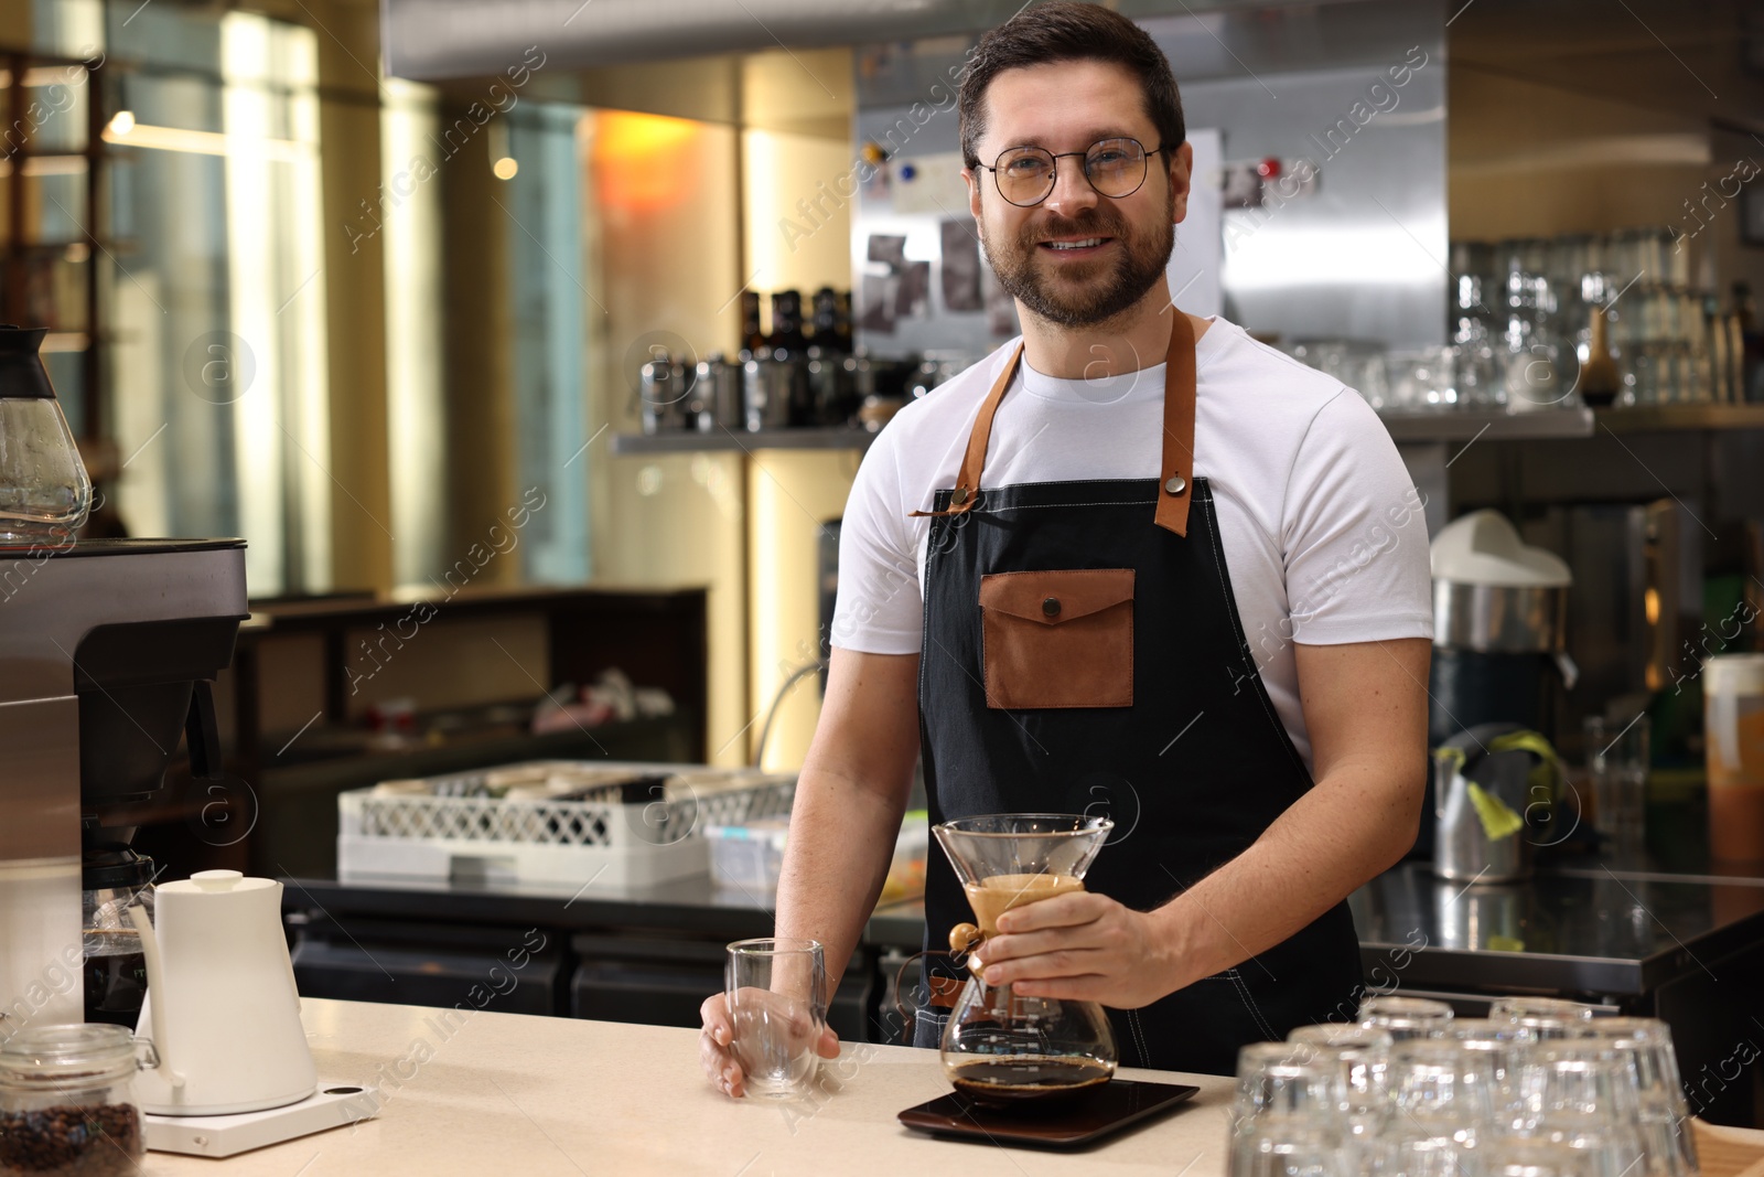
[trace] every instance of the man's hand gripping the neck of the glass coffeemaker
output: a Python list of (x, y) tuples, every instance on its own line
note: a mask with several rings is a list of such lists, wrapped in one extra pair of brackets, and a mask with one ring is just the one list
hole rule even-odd
[(1090, 891), (1014, 907), (979, 949), (988, 985), (1025, 997), (1138, 1009), (1178, 988), (1155, 914)]

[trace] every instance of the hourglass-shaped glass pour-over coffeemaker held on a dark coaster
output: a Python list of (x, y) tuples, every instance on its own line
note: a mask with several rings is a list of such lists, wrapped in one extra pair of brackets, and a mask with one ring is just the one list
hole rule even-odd
[(1115, 1075), (1115, 1034), (1094, 1001), (1027, 997), (983, 979), (998, 916), (1083, 891), (1085, 872), (1115, 828), (1106, 817), (993, 813), (931, 828), (977, 923), (949, 930), (949, 951), (968, 978), (944, 1025), (944, 1075), (984, 1105), (1073, 1098)]

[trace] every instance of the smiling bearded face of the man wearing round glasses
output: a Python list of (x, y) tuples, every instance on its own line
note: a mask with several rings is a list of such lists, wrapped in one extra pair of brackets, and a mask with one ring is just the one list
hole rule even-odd
[[(1064, 155), (1108, 138), (1138, 139), (1148, 152), (1159, 146), (1138, 79), (1108, 62), (1055, 62), (993, 78), (977, 154), (990, 168), (1009, 146)], [(1058, 161), (1053, 192), (1032, 208), (1005, 201), (991, 171), (963, 169), (998, 284), (1060, 326), (1104, 323), (1140, 302), (1162, 277), (1173, 226), (1187, 215), (1192, 148), (1164, 146), (1171, 150), (1147, 155), (1145, 184), (1118, 199), (1090, 187), (1081, 157)], [(1101, 242), (1053, 245), (1087, 238)]]

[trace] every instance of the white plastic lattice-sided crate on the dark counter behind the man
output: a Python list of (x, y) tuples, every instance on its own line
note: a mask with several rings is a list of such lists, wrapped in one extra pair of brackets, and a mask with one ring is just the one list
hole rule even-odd
[[(665, 775), (663, 796), (623, 803), (621, 785), (586, 799), (471, 796), (497, 775)], [(536, 761), (400, 782), (337, 798), (337, 877), (492, 879), (644, 886), (711, 868), (707, 826), (787, 815), (794, 775), (688, 764)]]

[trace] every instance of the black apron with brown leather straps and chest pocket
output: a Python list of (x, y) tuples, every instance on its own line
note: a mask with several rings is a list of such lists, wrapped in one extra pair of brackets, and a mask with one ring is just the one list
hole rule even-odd
[[(919, 658), (931, 822), (1108, 815), (1115, 829), (1087, 888), (1136, 911), (1240, 854), (1312, 783), (1244, 637), (1212, 492), (1184, 475), (1194, 328), (1171, 314), (1157, 480), (981, 489), (1018, 344), (981, 406), (958, 484), (916, 512), (933, 515)], [(924, 912), (928, 953), (972, 918), (935, 847)], [(928, 988), (947, 995), (960, 972), (947, 956), (926, 962)], [(1231, 1075), (1245, 1043), (1353, 1020), (1360, 981), (1342, 902), (1235, 969), (1108, 1015), (1122, 1066)], [(916, 1041), (935, 1046), (944, 1018), (919, 1016)]]

